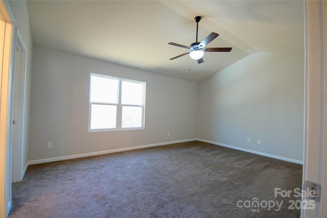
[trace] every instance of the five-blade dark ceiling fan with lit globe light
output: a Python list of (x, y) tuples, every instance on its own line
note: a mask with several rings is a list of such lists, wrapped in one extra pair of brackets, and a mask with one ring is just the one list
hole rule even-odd
[(175, 45), (178, 47), (183, 47), (184, 49), (191, 50), (190, 52), (186, 52), (184, 54), (178, 55), (176, 57), (173, 57), (169, 60), (174, 60), (176, 58), (182, 57), (184, 55), (190, 54), (190, 57), (194, 60), (197, 60), (198, 63), (203, 62), (203, 55), (204, 52), (230, 52), (231, 47), (207, 47), (204, 48), (207, 44), (209, 44), (212, 40), (214, 40), (217, 36), (219, 36), (218, 33), (211, 33), (209, 34), (205, 39), (203, 39), (202, 42), (198, 42), (198, 25), (199, 21), (201, 20), (200, 16), (196, 16), (194, 18), (194, 21), (196, 22), (196, 42), (193, 42), (190, 46), (177, 44), (175, 42), (169, 42), (168, 44)]

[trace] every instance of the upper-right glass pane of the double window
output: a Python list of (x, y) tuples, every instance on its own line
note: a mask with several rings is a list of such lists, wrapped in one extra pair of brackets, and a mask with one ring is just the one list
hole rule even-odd
[(143, 105), (143, 84), (123, 81), (122, 104)]

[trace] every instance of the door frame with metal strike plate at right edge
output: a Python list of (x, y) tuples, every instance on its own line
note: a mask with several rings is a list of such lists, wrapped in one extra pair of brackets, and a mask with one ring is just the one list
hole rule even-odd
[(327, 2), (306, 0), (304, 4), (305, 125), (302, 181), (320, 184), (321, 200), (314, 202), (313, 209), (302, 208), (301, 217), (327, 217)]

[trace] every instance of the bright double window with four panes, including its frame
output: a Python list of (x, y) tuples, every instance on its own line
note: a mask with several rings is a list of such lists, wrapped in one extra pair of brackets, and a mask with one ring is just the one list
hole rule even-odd
[(144, 129), (145, 82), (90, 74), (89, 131)]

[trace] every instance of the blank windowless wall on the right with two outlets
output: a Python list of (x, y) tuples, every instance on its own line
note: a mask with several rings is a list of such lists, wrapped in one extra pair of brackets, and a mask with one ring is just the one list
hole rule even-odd
[(201, 81), (197, 137), (302, 161), (303, 73), (303, 53), (256, 53)]

